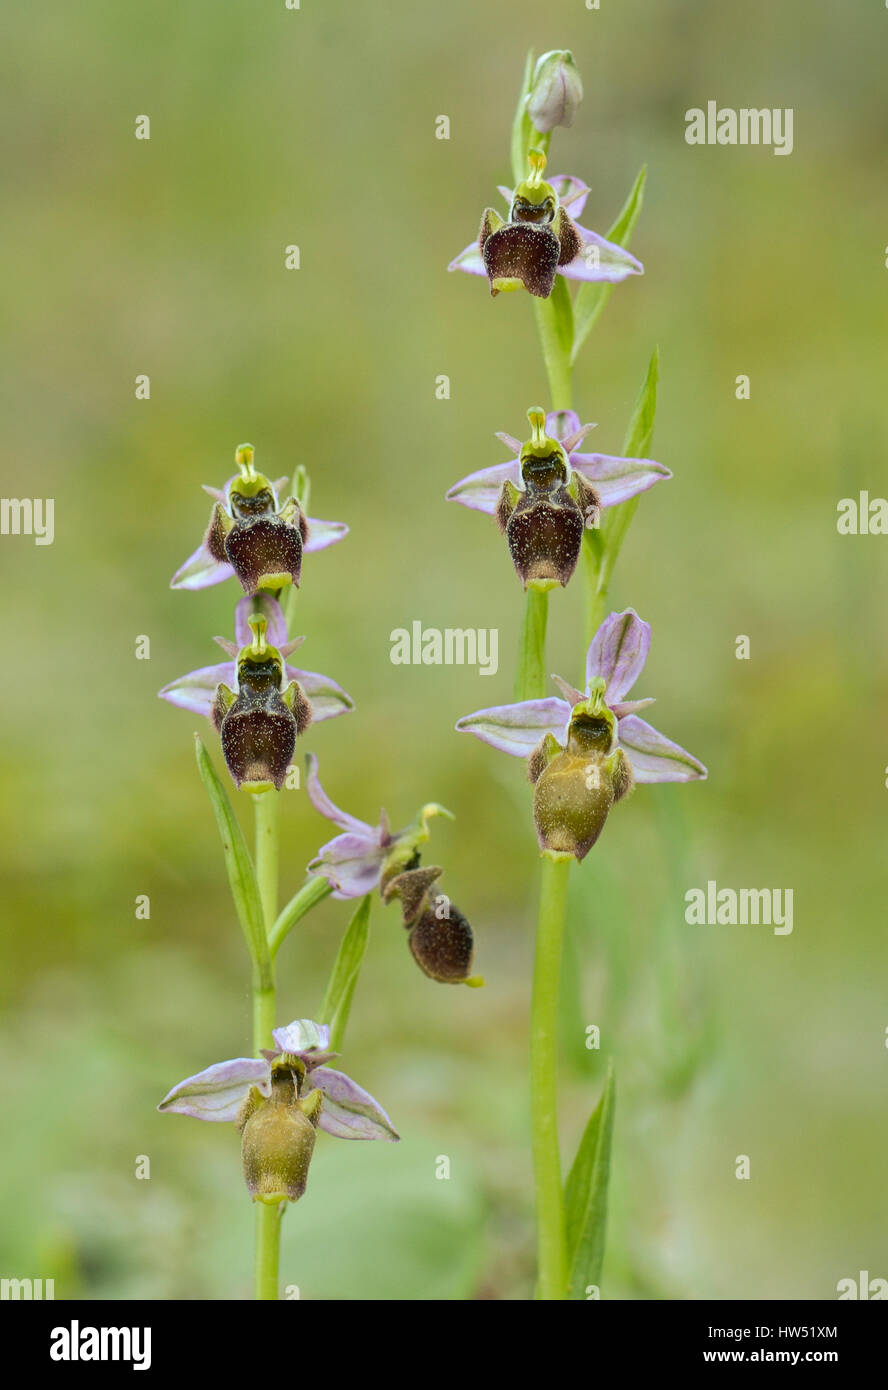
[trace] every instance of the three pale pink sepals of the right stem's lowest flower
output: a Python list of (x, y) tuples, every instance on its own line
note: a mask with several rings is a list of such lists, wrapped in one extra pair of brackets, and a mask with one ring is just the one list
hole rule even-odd
[(703, 763), (638, 717), (636, 710), (652, 701), (624, 699), (643, 670), (649, 648), (650, 626), (635, 609), (611, 613), (586, 652), (585, 694), (559, 678), (561, 699), (546, 696), (475, 710), (457, 720), (456, 728), (513, 758), (529, 758), (546, 735), (563, 749), (574, 708), (589, 699), (593, 682), (603, 681), (602, 698), (616, 717), (616, 744), (625, 752), (636, 783), (703, 780)]

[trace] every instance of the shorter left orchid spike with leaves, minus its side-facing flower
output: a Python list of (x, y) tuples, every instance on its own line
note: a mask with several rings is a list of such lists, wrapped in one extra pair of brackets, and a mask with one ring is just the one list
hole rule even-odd
[[(183, 589), (239, 581), (243, 598), (233, 614), (233, 641), (215, 638), (227, 660), (171, 681), (160, 696), (210, 720), (233, 785), (253, 802), (250, 855), (225, 787), (197, 737), (197, 767), (252, 963), (253, 1052), (185, 1077), (158, 1109), (236, 1126), (243, 1177), (254, 1202), (254, 1293), (274, 1301), (281, 1220), (288, 1202), (306, 1191), (317, 1130), (336, 1138), (389, 1143), (397, 1141), (397, 1133), (368, 1091), (327, 1065), (338, 1056), (329, 1051), (331, 1023), (336, 1042), (345, 1034), (367, 945), (367, 910), (346, 930), (321, 1020), (275, 1026), (278, 951), (296, 923), (335, 891), (332, 881), (310, 876), (278, 912), (279, 794), (293, 770), (297, 737), (313, 723), (353, 709), (336, 681), (289, 663), (304, 638), (289, 635), (278, 596), (289, 588), (292, 617), (303, 555), (340, 541), (347, 527), (306, 516), (309, 477), (303, 467), (296, 468), (288, 493), (286, 478), (272, 480), (256, 468), (252, 445), (239, 445), (235, 461), (239, 471), (224, 488), (207, 488), (213, 512), (204, 539), (172, 577), (172, 588)], [(329, 1023), (324, 1011), (329, 1011)]]

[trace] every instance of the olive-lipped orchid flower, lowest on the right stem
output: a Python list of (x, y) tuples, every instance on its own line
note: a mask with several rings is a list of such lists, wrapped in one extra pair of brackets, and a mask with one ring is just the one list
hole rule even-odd
[(457, 721), (460, 733), (527, 758), (539, 848), (550, 858), (582, 860), (634, 783), (706, 777), (692, 753), (638, 717), (652, 699), (624, 698), (649, 649), (650, 626), (634, 609), (611, 613), (589, 644), (585, 692), (554, 676), (561, 699), (499, 705)]

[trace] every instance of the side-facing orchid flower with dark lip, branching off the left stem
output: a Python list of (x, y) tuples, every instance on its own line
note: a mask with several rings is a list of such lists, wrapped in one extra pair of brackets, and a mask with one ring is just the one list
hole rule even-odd
[(335, 898), (361, 898), (378, 888), (384, 902), (397, 899), (407, 944), (424, 974), (441, 984), (482, 984), (471, 974), (474, 937), (467, 917), (445, 894), (432, 895), (443, 870), (420, 863), (420, 845), (429, 838), (428, 821), (432, 816), (453, 819), (450, 812), (429, 802), (404, 830), (392, 831), (384, 810), (379, 823), (368, 826), (334, 805), (321, 787), (314, 753), (309, 753), (307, 767), (309, 801), (343, 831), (321, 847), (309, 873), (327, 878)]

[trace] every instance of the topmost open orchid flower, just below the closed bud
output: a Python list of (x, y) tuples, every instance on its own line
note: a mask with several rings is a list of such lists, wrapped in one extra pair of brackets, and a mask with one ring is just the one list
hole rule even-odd
[(585, 207), (588, 185), (573, 175), (546, 182), (546, 156), (541, 150), (531, 150), (528, 163), (529, 175), (517, 188), (500, 185), (507, 218), (485, 208), (477, 242), (461, 250), (447, 270), (486, 275), (491, 295), (527, 289), (538, 299), (549, 297), (556, 272), (567, 279), (610, 282), (643, 274), (642, 263), (623, 246), (574, 221)]

